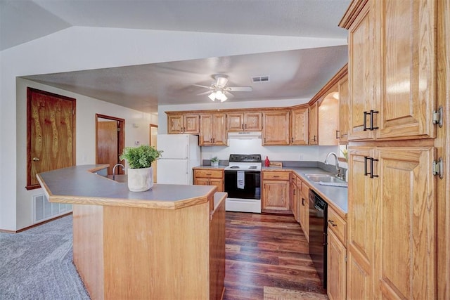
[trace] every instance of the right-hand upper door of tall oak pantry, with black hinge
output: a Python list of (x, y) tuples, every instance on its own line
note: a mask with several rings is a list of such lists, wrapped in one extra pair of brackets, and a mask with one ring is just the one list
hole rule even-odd
[(377, 139), (434, 138), (437, 1), (374, 2), (381, 51)]

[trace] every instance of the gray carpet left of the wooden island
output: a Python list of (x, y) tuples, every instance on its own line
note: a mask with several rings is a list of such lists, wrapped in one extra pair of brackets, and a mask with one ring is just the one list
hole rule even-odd
[(89, 299), (72, 263), (72, 215), (0, 233), (0, 299)]

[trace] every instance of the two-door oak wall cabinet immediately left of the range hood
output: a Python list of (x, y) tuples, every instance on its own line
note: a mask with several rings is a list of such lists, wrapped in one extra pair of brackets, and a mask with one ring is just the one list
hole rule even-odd
[(200, 146), (226, 145), (226, 115), (201, 114), (200, 115)]

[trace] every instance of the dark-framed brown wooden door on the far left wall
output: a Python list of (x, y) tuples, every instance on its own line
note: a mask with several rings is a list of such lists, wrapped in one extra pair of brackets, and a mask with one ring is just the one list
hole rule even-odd
[(75, 165), (75, 99), (27, 88), (27, 190), (36, 174)]

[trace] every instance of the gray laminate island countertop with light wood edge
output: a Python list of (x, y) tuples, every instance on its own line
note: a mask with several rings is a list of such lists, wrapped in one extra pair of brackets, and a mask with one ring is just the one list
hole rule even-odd
[(90, 204), (152, 209), (181, 209), (210, 200), (214, 209), (212, 185), (155, 184), (146, 192), (130, 192), (127, 183), (113, 181), (97, 175), (108, 167), (90, 164), (57, 169), (37, 174), (49, 202)]

